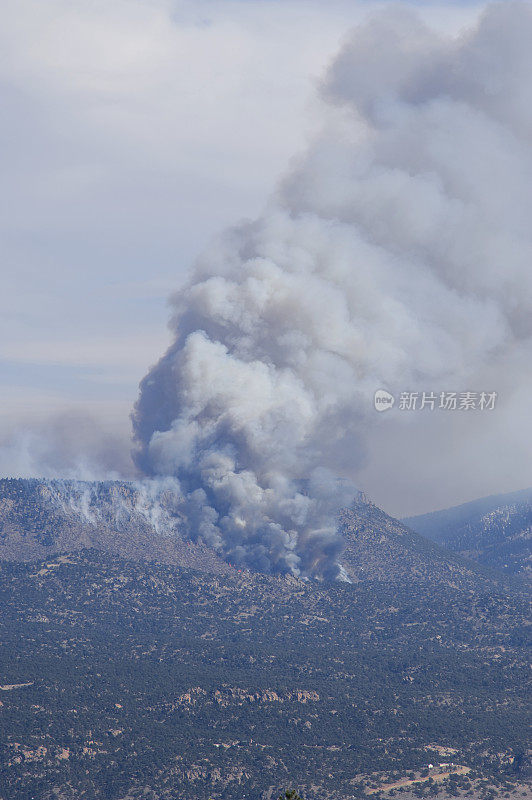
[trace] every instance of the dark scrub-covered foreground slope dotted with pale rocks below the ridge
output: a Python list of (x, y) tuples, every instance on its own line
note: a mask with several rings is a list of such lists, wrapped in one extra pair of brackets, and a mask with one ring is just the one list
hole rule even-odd
[(474, 780), (520, 779), (529, 609), (493, 586), (91, 550), (0, 565), (0, 602), (3, 800), (348, 800), (442, 748)]

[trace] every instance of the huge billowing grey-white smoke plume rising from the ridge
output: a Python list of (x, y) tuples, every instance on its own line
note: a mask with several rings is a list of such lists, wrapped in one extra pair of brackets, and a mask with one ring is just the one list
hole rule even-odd
[(322, 136), (173, 297), (136, 460), (228, 558), (338, 574), (374, 391), (460, 386), (528, 348), (531, 40), (511, 2), (457, 39), (398, 9), (357, 30)]

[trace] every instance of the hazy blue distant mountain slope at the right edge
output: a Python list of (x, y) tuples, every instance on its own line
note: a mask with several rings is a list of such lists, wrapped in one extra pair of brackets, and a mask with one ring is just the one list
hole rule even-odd
[(478, 564), (510, 575), (531, 576), (532, 489), (484, 497), (403, 522)]

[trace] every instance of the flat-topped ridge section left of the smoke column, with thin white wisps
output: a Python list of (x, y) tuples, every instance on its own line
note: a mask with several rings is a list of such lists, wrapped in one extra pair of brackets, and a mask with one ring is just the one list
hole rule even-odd
[(170, 493), (125, 481), (0, 479), (0, 560), (31, 561), (95, 548), (125, 558), (230, 572), (215, 551), (183, 539)]

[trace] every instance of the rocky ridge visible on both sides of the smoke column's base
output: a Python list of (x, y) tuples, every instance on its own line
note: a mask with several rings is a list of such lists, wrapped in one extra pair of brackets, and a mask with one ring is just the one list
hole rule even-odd
[[(0, 560), (27, 561), (94, 548), (132, 560), (231, 573), (222, 555), (181, 524), (170, 491), (154, 499), (138, 484), (0, 480)], [(442, 549), (358, 495), (339, 514), (352, 581), (485, 581), (459, 555)]]

